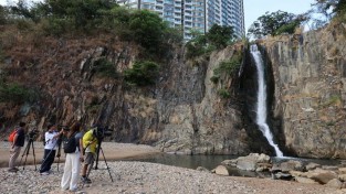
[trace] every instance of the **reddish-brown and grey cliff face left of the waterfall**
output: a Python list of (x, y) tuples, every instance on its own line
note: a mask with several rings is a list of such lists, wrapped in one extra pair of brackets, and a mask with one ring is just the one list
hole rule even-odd
[[(249, 87), (254, 82), (242, 80), (254, 73), (247, 65), (249, 60), (243, 62), (241, 76), (223, 76), (219, 84), (210, 80), (213, 69), (229, 60), (235, 47), (193, 62), (185, 61), (181, 48), (174, 48), (161, 58), (155, 86), (128, 87), (120, 77), (103, 77), (95, 72), (102, 58), (119, 74), (139, 58), (140, 48), (114, 37), (42, 37), (40, 43), (28, 44), (13, 34), (2, 44), (7, 46), (1, 63), (7, 83), (36, 88), (41, 96), (32, 104), (2, 103), (6, 128), (18, 120), (39, 130), (48, 122), (71, 125), (81, 120), (88, 127), (98, 121), (113, 131), (106, 140), (147, 143), (167, 152), (270, 152), (248, 117), (251, 109), (247, 107), (251, 106), (247, 91), (253, 94)], [(230, 98), (218, 95), (221, 87), (230, 91)]]

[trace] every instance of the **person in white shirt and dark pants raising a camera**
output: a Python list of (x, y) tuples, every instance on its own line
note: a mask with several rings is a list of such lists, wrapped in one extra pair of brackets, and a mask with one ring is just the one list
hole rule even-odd
[(56, 152), (57, 138), (62, 134), (62, 131), (56, 131), (56, 126), (53, 123), (48, 125), (48, 131), (44, 133), (44, 155), (40, 169), (41, 175), (49, 175), (51, 166), (54, 162)]

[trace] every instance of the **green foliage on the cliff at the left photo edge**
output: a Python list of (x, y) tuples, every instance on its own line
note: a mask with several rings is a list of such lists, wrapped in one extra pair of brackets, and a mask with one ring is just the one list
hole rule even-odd
[(34, 103), (40, 98), (35, 89), (25, 88), (19, 84), (4, 84), (0, 85), (0, 101), (1, 103)]

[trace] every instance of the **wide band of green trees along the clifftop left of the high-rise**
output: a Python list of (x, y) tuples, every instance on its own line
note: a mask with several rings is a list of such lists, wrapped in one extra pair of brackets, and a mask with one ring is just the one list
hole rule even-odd
[[(144, 58), (164, 54), (169, 44), (182, 42), (181, 30), (169, 28), (157, 13), (125, 9), (114, 0), (44, 0), (31, 6), (20, 0), (10, 10), (14, 20), (38, 23), (45, 35), (114, 33), (122, 41), (139, 44)], [(21, 29), (30, 29), (22, 21)]]

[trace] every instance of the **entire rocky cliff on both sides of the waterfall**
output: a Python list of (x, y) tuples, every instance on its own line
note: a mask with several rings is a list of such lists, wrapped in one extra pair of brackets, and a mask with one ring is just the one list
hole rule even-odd
[[(268, 39), (261, 44), (268, 82), (269, 125), (285, 155), (346, 158), (345, 26)], [(166, 152), (248, 154), (273, 149), (255, 120), (256, 71), (240, 44), (187, 61), (184, 47), (159, 60), (149, 87), (122, 78), (141, 50), (116, 37), (40, 37), (2, 32), (1, 76), (34, 88), (40, 99), (1, 103), (6, 132), (19, 120), (44, 130), (48, 122), (112, 129), (107, 141), (147, 143)], [(240, 67), (212, 82), (221, 62), (242, 54)], [(97, 74), (106, 60), (117, 75)], [(227, 91), (220, 95), (220, 89)]]

